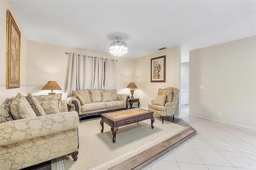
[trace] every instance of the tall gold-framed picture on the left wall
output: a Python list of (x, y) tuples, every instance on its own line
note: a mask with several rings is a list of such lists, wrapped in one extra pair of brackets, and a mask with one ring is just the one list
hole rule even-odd
[(6, 89), (20, 87), (20, 30), (7, 10)]

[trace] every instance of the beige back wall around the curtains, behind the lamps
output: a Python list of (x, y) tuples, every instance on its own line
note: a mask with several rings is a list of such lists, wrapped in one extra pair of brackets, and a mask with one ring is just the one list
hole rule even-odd
[(117, 91), (119, 94), (130, 94), (130, 90), (126, 86), (130, 81), (133, 81), (133, 59), (125, 57), (118, 58), (110, 54), (34, 41), (28, 41), (27, 83), (32, 84), (32, 86), (28, 87), (28, 93), (32, 95), (48, 94), (50, 91), (41, 90), (42, 86), (33, 86), (33, 84), (56, 81), (62, 90), (55, 92), (62, 93), (62, 99), (64, 99), (69, 60), (66, 52), (118, 60), (116, 63)]

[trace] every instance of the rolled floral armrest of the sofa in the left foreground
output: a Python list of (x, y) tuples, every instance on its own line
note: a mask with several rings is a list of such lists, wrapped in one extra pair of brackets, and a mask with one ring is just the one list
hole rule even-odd
[(0, 123), (0, 146), (78, 128), (76, 111)]

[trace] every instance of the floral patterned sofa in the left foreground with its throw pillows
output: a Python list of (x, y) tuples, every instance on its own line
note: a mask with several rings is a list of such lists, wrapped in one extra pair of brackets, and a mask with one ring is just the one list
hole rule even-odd
[(18, 93), (1, 105), (0, 169), (26, 168), (65, 154), (76, 160), (79, 119), (76, 111), (67, 111), (61, 94)]

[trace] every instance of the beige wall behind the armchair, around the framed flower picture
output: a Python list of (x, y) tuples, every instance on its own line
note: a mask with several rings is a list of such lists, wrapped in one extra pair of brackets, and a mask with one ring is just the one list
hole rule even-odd
[[(166, 82), (151, 83), (150, 59), (163, 55), (166, 55)], [(138, 87), (134, 91), (134, 97), (139, 98), (140, 106), (146, 109), (148, 109), (150, 101), (156, 98), (158, 89), (164, 89), (165, 87), (180, 89), (180, 46), (134, 59), (134, 83)], [(179, 115), (179, 107), (177, 107), (175, 115)]]

